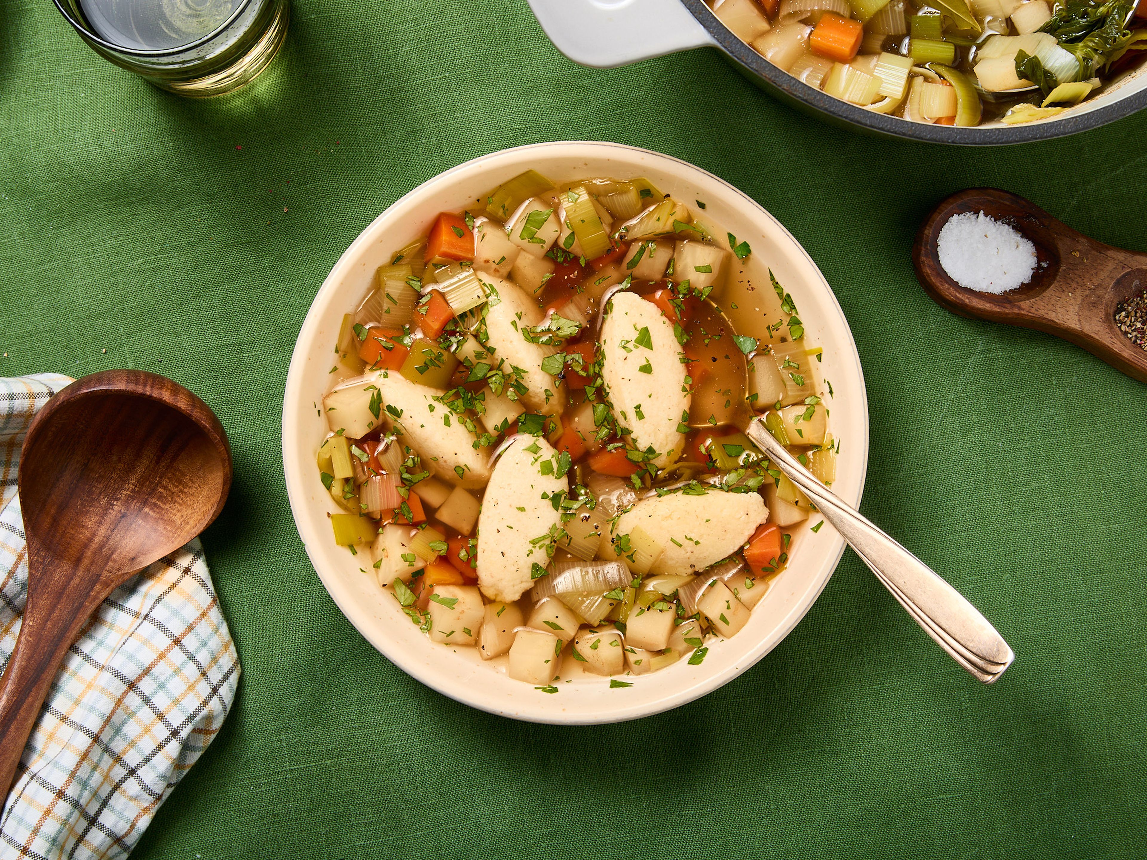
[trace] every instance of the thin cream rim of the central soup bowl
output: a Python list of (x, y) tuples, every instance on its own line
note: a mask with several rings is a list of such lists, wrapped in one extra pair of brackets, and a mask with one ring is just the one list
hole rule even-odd
[[(804, 247), (772, 213), (735, 186), (710, 173), (709, 171), (689, 164), (680, 158), (640, 147), (614, 143), (609, 141), (551, 141), (529, 143), (477, 156), (428, 179), (387, 206), (381, 214), (373, 219), (370, 224), (367, 225), (361, 233), (359, 233), (350, 247), (348, 247), (348, 249), (340, 256), (338, 261), (323, 280), (322, 286), (307, 310), (306, 318), (303, 321), (299, 336), (296, 339), (296, 344), (291, 353), (290, 366), (288, 369), (287, 383), (283, 392), (281, 440), (283, 472), (288, 500), (291, 508), (291, 516), (295, 521), (299, 538), (303, 541), (304, 549), (307, 553), (307, 557), (338, 610), (364, 636), (364, 639), (374, 646), (387, 659), (424, 686), (443, 694), (448, 698), (487, 713), (529, 722), (554, 725), (599, 725), (607, 722), (622, 722), (653, 716), (687, 704), (688, 702), (700, 698), (701, 696), (704, 696), (708, 693), (724, 686), (754, 666), (757, 662), (764, 658), (765, 655), (780, 644), (780, 642), (804, 618), (804, 616), (812, 608), (812, 604), (816, 603), (844, 554), (845, 542), (843, 538), (836, 534), (836, 532), (830, 532), (835, 548), (830, 548), (825, 556), (825, 560), (818, 565), (819, 569), (825, 571), (820, 581), (816, 584), (816, 587), (805, 591), (803, 596), (801, 596), (795, 605), (789, 609), (788, 613), (781, 619), (780, 624), (771, 628), (768, 635), (763, 638), (771, 640), (771, 644), (765, 647), (764, 641), (758, 642), (756, 647), (749, 648), (748, 652), (740, 655), (734, 665), (712, 672), (695, 683), (686, 685), (682, 688), (671, 689), (650, 702), (637, 703), (627, 706), (622, 705), (603, 714), (570, 713), (564, 709), (547, 706), (531, 709), (528, 706), (523, 707), (521, 702), (506, 703), (501, 699), (493, 698), (489, 696), (489, 694), (483, 694), (482, 690), (475, 690), (471, 686), (466, 683), (448, 683), (447, 681), (443, 681), (440, 678), (435, 677), (435, 672), (427, 670), (426, 666), (416, 659), (416, 657), (408, 655), (400, 644), (387, 642), (384, 638), (376, 635), (377, 625), (373, 621), (369, 613), (362, 610), (352, 600), (349, 586), (345, 586), (340, 581), (338, 571), (328, 569), (326, 562), (320, 557), (319, 545), (322, 542), (320, 535), (309, 535), (305, 533), (303, 510), (307, 502), (305, 499), (306, 491), (303, 486), (304, 475), (302, 471), (296, 472), (292, 468), (291, 460), (291, 452), (297, 451), (298, 445), (301, 444), (298, 439), (298, 428), (294, 423), (292, 411), (297, 408), (298, 402), (304, 399), (305, 392), (302, 390), (302, 377), (304, 375), (307, 357), (310, 355), (309, 350), (302, 350), (301, 347), (304, 341), (307, 339), (309, 334), (311, 338), (314, 337), (314, 333), (309, 333), (309, 330), (318, 328), (318, 314), (320, 311), (325, 310), (326, 305), (337, 295), (342, 280), (357, 264), (364, 250), (373, 242), (377, 241), (377, 237), (374, 234), (379, 228), (380, 222), (396, 218), (406, 206), (414, 205), (423, 197), (432, 196), (442, 186), (451, 185), (459, 174), (486, 166), (487, 163), (502, 158), (529, 163), (533, 156), (541, 154), (555, 155), (554, 150), (563, 147), (575, 148), (583, 151), (586, 149), (595, 150), (594, 155), (601, 155), (602, 157), (608, 157), (609, 153), (614, 153), (624, 154), (629, 157), (640, 156), (645, 158), (653, 158), (655, 161), (660, 161), (666, 172), (674, 171), (680, 174), (692, 173), (695, 179), (705, 183), (715, 183), (724, 191), (739, 197), (746, 208), (754, 211), (755, 218), (763, 218), (770, 221), (772, 226), (779, 230), (780, 235), (791, 244), (793, 250), (797, 251), (799, 256), (804, 258), (804, 263), (811, 266), (812, 272), (819, 276), (819, 282), (813, 279), (813, 282), (809, 283), (807, 288), (810, 290), (824, 290), (824, 297), (827, 299), (827, 306), (835, 308), (835, 312), (838, 315), (841, 330), (843, 331), (843, 338), (836, 342), (840, 347), (841, 359), (842, 362), (848, 366), (850, 373), (855, 374), (857, 382), (855, 408), (858, 413), (861, 433), (859, 435), (860, 438), (850, 439), (850, 447), (859, 454), (856, 467), (858, 480), (856, 492), (852, 494), (855, 498), (846, 497), (845, 500), (853, 507), (859, 506), (867, 477), (871, 432), (864, 368), (860, 363), (856, 341), (852, 336), (852, 329), (849, 326), (848, 319), (845, 318), (843, 308), (840, 305), (840, 300), (833, 292), (832, 287), (824, 276), (824, 273), (820, 272), (820, 268), (813, 261), (812, 257), (804, 249)], [(577, 157), (580, 158), (584, 157), (584, 155)], [(489, 166), (492, 167), (493, 165)], [(826, 534), (825, 537), (829, 535)], [(549, 699), (548, 696), (543, 696), (540, 698)]]

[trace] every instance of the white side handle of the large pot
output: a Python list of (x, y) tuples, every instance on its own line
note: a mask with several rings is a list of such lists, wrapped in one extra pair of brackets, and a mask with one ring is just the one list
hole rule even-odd
[(680, 0), (529, 0), (549, 40), (595, 69), (707, 45), (709, 32)]

